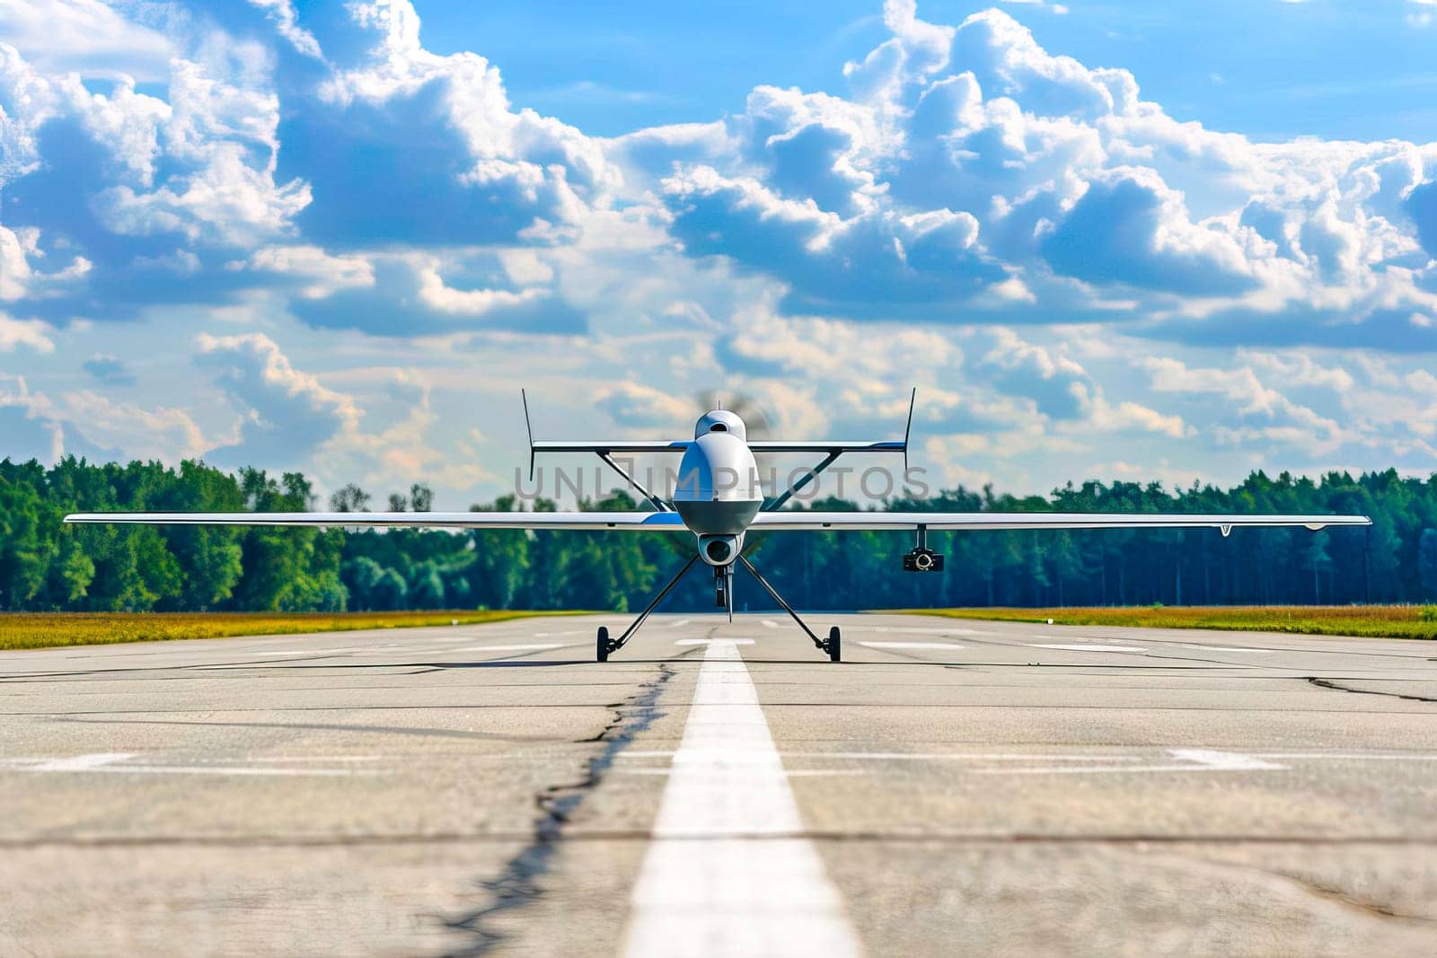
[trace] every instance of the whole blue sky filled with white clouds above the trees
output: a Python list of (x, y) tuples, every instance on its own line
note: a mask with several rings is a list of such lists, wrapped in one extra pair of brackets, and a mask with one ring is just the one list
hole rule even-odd
[[(0, 455), (513, 484), (726, 388), (943, 483), (1437, 460), (1437, 0), (0, 0)], [(687, 422), (685, 422), (687, 421)]]

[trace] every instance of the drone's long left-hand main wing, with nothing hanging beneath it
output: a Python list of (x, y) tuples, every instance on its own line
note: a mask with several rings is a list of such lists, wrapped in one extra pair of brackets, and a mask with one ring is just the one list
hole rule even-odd
[(678, 513), (73, 513), (68, 523), (684, 531)]

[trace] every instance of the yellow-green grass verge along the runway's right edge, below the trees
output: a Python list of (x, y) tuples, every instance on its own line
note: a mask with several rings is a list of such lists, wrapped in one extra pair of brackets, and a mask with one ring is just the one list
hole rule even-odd
[(1434, 606), (1121, 606), (1101, 609), (902, 609), (912, 615), (1055, 625), (1128, 625), (1437, 639)]

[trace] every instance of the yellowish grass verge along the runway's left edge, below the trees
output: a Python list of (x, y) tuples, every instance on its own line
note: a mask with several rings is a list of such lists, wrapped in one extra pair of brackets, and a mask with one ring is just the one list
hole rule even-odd
[(0, 649), (63, 645), (224, 639), (236, 635), (293, 635), (476, 625), (581, 612), (7, 612), (0, 613)]

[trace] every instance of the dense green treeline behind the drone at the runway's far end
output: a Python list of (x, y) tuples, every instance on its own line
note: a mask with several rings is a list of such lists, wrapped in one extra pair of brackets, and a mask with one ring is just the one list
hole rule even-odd
[[(427, 511), (424, 485), (387, 508)], [(329, 507), (364, 511), (349, 485)], [(635, 609), (693, 554), (687, 534), (343, 531), (221, 526), (65, 526), (70, 511), (303, 511), (299, 473), (220, 471), (203, 462), (53, 467), (0, 461), (0, 609), (387, 610), (438, 608)], [(852, 510), (821, 500), (812, 508)], [(553, 503), (537, 501), (540, 510)], [(638, 508), (621, 491), (585, 508)], [(892, 508), (933, 511), (1361, 513), (1371, 529), (931, 533), (941, 575), (905, 575), (908, 533), (750, 534), (746, 552), (806, 609), (983, 605), (1279, 605), (1437, 599), (1437, 477), (1395, 470), (1321, 480), (1253, 473), (1230, 490), (1083, 483), (1050, 496), (948, 490)], [(474, 506), (519, 508), (514, 497)], [(736, 603), (773, 603), (740, 570)], [(668, 608), (706, 609), (713, 583), (691, 572)]]

